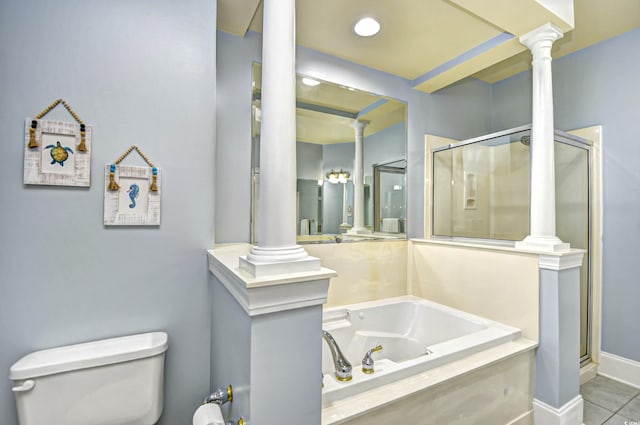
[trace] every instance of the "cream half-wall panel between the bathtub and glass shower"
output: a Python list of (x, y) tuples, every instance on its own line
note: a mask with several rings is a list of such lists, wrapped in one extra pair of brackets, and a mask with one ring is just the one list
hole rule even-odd
[(538, 341), (538, 254), (513, 247), (412, 239), (408, 263), (411, 295), (516, 327), (523, 337)]

